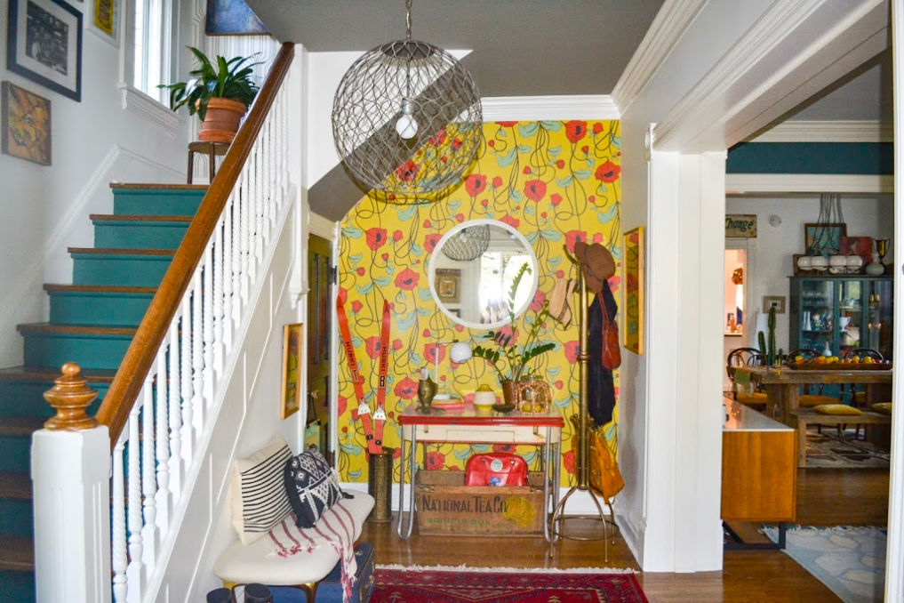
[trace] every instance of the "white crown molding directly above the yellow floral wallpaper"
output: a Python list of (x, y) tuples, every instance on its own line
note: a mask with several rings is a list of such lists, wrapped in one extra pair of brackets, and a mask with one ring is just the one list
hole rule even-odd
[(484, 121), (541, 121), (543, 119), (619, 119), (607, 94), (546, 97), (486, 97), (480, 99)]

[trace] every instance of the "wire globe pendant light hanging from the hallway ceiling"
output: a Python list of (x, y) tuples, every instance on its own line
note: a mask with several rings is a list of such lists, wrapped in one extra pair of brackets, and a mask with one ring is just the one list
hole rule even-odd
[(448, 52), (411, 39), (365, 52), (333, 101), (333, 137), (367, 189), (412, 197), (457, 184), (473, 164), (483, 118), (471, 74)]

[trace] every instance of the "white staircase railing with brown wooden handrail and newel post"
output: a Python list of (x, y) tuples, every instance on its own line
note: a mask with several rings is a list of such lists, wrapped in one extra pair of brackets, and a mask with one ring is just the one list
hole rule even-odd
[[(58, 415), (35, 434), (33, 445), (39, 601), (106, 601), (111, 595), (114, 601), (137, 603), (157, 596), (158, 573), (165, 570), (181, 528), (180, 511), (204, 460), (218, 396), (231, 378), (224, 367), (241, 344), (237, 333), (252, 309), (250, 291), (293, 203), (287, 126), (294, 99), (282, 85), (293, 52), (292, 44), (284, 44), (274, 61), (110, 385), (99, 426), (90, 428), (83, 410), (73, 411), (97, 395), (80, 380), (77, 365), (68, 365), (47, 393)], [(82, 429), (86, 426), (90, 429)], [(55, 454), (62, 436), (89, 442), (104, 438), (107, 430), (113, 442), (110, 461)], [(47, 463), (57, 472), (78, 472), (78, 484), (62, 490), (45, 477), (48, 472), (38, 470)], [(98, 478), (106, 471), (97, 470), (105, 463), (112, 466), (109, 497), (105, 480)], [(90, 479), (89, 466), (94, 468)], [(63, 526), (71, 537), (60, 539), (57, 520), (62, 522), (65, 509), (59, 501), (70, 496), (85, 498), (85, 513), (95, 513), (97, 521)], [(66, 521), (77, 523), (77, 518)], [(38, 528), (48, 522), (58, 529)], [(71, 542), (80, 542), (80, 551)], [(72, 554), (82, 556), (80, 567), (66, 561)], [(100, 584), (105, 575), (106, 588)], [(95, 586), (72, 593), (73, 581)], [(70, 588), (63, 589), (66, 582)]]

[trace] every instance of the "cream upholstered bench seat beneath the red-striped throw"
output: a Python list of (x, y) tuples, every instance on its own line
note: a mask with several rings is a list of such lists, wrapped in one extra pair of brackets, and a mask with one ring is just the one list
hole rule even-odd
[[(353, 515), (356, 526), (353, 540), (357, 540), (361, 526), (373, 508), (373, 497), (364, 492), (348, 494), (353, 498), (345, 499), (343, 505)], [(335, 508), (324, 513), (321, 521), (324, 520), (328, 523), (341, 521)], [(338, 562), (339, 554), (325, 540), (318, 542), (314, 551), (280, 557), (269, 538), (260, 538), (248, 545), (233, 542), (213, 564), (213, 572), (236, 584), (259, 582), (270, 586), (294, 586), (324, 579)]]

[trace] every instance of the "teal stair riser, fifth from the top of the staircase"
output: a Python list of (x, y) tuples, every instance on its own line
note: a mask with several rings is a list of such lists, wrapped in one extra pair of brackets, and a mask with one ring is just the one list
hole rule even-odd
[(127, 335), (25, 334), (25, 366), (62, 366), (78, 362), (83, 369), (116, 369), (132, 338)]

